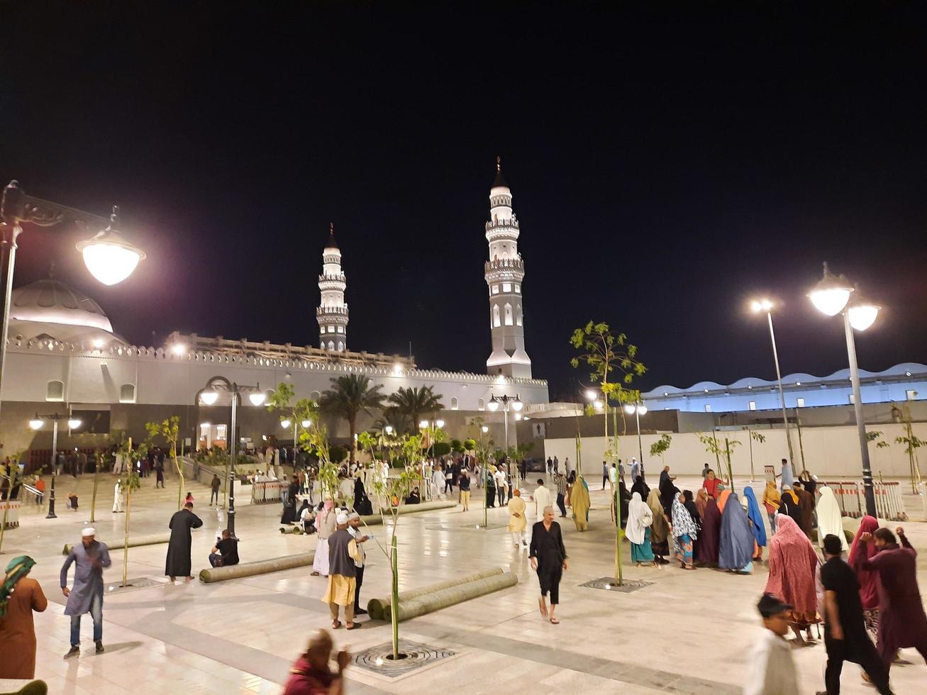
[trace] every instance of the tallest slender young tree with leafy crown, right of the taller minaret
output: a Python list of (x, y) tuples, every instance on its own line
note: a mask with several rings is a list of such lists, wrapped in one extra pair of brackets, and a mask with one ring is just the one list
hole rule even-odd
[[(608, 406), (609, 401), (616, 404), (613, 411), (615, 418), (615, 432), (610, 442), (606, 457), (617, 463), (618, 460), (618, 433), (617, 411), (622, 403), (637, 403), (641, 399), (641, 391), (631, 388), (635, 377), (643, 375), (647, 368), (637, 359), (637, 346), (628, 342), (628, 336), (623, 333), (613, 333), (605, 322), (588, 322), (585, 326), (577, 328), (570, 336), (570, 344), (579, 354), (570, 360), (574, 368), (580, 364), (589, 370), (589, 378), (593, 384), (599, 386), (602, 392), (603, 414), (605, 425), (605, 441), (608, 439)], [(624, 413), (622, 412), (622, 418)], [(580, 475), (582, 473), (580, 472)], [(623, 584), (621, 570), (621, 504), (618, 499), (616, 487), (612, 504), (615, 505), (615, 581), (620, 587)]]

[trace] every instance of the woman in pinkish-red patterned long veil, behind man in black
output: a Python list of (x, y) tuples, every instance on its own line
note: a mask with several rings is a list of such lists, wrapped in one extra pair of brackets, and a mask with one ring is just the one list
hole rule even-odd
[[(783, 496), (784, 497), (784, 496)], [(801, 631), (811, 637), (811, 624), (819, 623), (815, 572), (818, 553), (791, 516), (776, 515), (776, 535), (769, 542), (769, 578), (766, 593), (793, 606), (789, 624), (799, 644)]]

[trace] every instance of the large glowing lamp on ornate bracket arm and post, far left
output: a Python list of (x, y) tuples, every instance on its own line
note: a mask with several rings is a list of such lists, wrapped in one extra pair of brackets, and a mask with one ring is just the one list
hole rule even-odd
[(19, 182), (11, 181), (0, 199), (0, 234), (3, 234), (0, 264), (6, 259), (6, 293), (3, 305), (3, 323), (0, 324), (0, 387), (6, 367), (6, 337), (9, 333), (10, 297), (13, 294), (13, 274), (16, 270), (16, 249), (22, 223), (29, 222), (39, 227), (51, 227), (62, 221), (77, 221), (106, 224), (106, 228), (90, 239), (77, 245), (83, 255), (84, 265), (103, 284), (117, 284), (135, 270), (139, 261), (145, 258), (145, 251), (127, 242), (115, 229), (119, 208), (113, 207), (109, 220), (89, 212), (68, 208), (48, 200), (27, 196), (19, 188)]

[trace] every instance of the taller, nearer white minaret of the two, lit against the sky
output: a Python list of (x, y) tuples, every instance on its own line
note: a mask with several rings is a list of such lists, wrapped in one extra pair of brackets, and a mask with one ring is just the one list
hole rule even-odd
[(522, 280), (525, 263), (518, 253), (518, 220), (512, 211), (512, 191), (502, 178), (502, 160), (496, 158), (496, 180), (489, 190), (485, 264), (489, 285), (489, 327), (492, 354), (486, 360), (489, 374), (531, 378), (531, 359), (525, 352)]

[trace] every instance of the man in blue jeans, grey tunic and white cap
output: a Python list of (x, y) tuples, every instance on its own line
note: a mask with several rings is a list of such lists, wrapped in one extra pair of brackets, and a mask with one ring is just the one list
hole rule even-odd
[[(81, 532), (81, 544), (70, 549), (61, 567), (61, 593), (68, 597), (64, 614), (70, 615), (70, 651), (65, 659), (81, 653), (81, 616), (94, 619), (96, 653), (103, 651), (103, 570), (112, 562), (105, 543), (95, 540), (96, 531), (87, 527)], [(74, 564), (74, 587), (68, 588), (68, 570)]]

